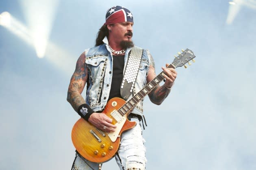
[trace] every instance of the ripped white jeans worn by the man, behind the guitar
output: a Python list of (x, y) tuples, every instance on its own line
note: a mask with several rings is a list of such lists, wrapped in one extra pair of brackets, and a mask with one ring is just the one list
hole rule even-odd
[[(131, 118), (131, 121), (136, 121), (137, 125), (121, 135), (120, 147), (115, 159), (120, 170), (145, 170), (147, 161), (145, 157), (146, 148), (140, 122), (136, 118)], [(88, 161), (80, 156), (75, 159), (73, 170), (98, 169), (98, 163)]]

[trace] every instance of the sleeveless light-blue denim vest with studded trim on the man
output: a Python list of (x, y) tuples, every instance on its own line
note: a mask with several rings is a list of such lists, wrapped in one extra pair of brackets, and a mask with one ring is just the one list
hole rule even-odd
[[(113, 56), (108, 47), (108, 40), (105, 37), (104, 44), (85, 50), (85, 68), (88, 69), (86, 103), (96, 111), (104, 110), (106, 106), (109, 92), (111, 89), (112, 73), (113, 73)], [(131, 48), (126, 49), (124, 55), (124, 68), (128, 60), (128, 53)], [(141, 65), (133, 92), (128, 98), (132, 98), (146, 84), (148, 75), (150, 57), (149, 51), (143, 50)], [(125, 71), (125, 70), (124, 70)], [(132, 110), (132, 113), (143, 115), (143, 100), (139, 102)]]

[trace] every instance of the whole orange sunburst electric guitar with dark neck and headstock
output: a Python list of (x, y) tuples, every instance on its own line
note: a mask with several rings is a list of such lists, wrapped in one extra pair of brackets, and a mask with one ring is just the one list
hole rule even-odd
[[(187, 68), (185, 64), (189, 63), (193, 58), (195, 58), (195, 55), (191, 50), (182, 50), (182, 53), (179, 52), (178, 56), (175, 56), (174, 61), (168, 68), (181, 66)], [(130, 111), (133, 110), (136, 104), (152, 91), (156, 85), (163, 81), (164, 74), (165, 72), (158, 74), (128, 101), (121, 98), (112, 98), (108, 101), (102, 113), (113, 119), (112, 124), (117, 126), (115, 132), (106, 133), (99, 130), (88, 121), (80, 118), (72, 129), (72, 142), (78, 153), (92, 162), (102, 163), (111, 159), (118, 151), (121, 134), (136, 125), (135, 121), (129, 121), (127, 119)]]

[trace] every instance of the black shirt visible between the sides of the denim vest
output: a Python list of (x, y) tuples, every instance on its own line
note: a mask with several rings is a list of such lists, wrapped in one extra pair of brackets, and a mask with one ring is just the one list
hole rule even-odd
[(108, 100), (111, 98), (122, 98), (120, 86), (123, 80), (124, 55), (113, 55), (113, 76)]

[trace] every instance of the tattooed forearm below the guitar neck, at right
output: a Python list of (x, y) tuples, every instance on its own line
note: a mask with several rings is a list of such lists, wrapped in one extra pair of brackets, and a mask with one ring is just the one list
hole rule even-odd
[(149, 94), (150, 101), (154, 104), (160, 105), (169, 95), (171, 89), (167, 89), (165, 85), (158, 85)]

